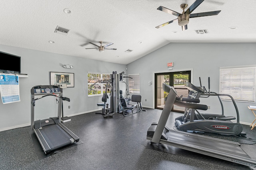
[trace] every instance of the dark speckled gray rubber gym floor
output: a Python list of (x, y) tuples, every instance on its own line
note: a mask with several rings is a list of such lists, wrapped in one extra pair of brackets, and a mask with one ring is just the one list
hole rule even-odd
[[(157, 122), (162, 110), (148, 109), (124, 117), (114, 114), (86, 113), (71, 117), (64, 123), (84, 142), (57, 154), (40, 159), (29, 133), (29, 127), (0, 132), (1, 170), (248, 170), (240, 164), (212, 158), (146, 140), (148, 127)], [(181, 113), (171, 113), (167, 122), (174, 127), (174, 119)], [(256, 129), (243, 125), (248, 137), (256, 139)], [(226, 137), (220, 137), (226, 138)], [(254, 141), (228, 137), (241, 143), (242, 149), (256, 159)], [(38, 146), (37, 146), (38, 147)]]

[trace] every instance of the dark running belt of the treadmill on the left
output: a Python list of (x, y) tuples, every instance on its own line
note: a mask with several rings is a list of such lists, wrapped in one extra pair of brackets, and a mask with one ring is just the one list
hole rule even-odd
[(39, 129), (51, 150), (64, 147), (72, 143), (72, 137), (58, 124), (48, 125)]

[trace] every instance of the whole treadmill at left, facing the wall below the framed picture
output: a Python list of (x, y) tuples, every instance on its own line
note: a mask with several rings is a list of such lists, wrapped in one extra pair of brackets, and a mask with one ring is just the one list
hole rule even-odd
[[(39, 96), (35, 98), (36, 96)], [(54, 96), (59, 98), (58, 117), (50, 117), (48, 119), (34, 121), (34, 107), (36, 100), (44, 97)], [(38, 141), (40, 142), (45, 154), (52, 150), (71, 145), (79, 141), (79, 137), (64, 126), (61, 121), (62, 102), (69, 98), (62, 96), (62, 88), (56, 85), (38, 85), (31, 88), (31, 127)]]

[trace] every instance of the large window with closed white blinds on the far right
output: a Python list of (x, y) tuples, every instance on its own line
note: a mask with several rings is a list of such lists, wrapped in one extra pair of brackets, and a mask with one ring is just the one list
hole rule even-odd
[[(229, 94), (237, 102), (255, 102), (256, 66), (220, 68), (220, 94)], [(230, 100), (228, 96), (220, 96)]]

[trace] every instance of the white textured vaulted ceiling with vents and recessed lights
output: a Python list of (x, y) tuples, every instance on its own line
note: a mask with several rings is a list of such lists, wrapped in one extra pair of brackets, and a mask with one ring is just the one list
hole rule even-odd
[[(177, 18), (157, 10), (159, 6), (182, 13), (184, 3), (189, 7), (194, 0), (0, 0), (0, 44), (129, 64), (168, 43), (256, 42), (256, 0), (204, 0), (192, 14), (220, 14), (190, 18), (185, 31), (177, 21), (155, 28)], [(64, 13), (66, 8), (70, 14)], [(54, 33), (57, 26), (70, 32)], [(209, 33), (196, 34), (196, 29)], [(109, 48), (117, 50), (85, 49), (99, 41), (112, 42)], [(127, 49), (133, 51), (124, 52)]]

